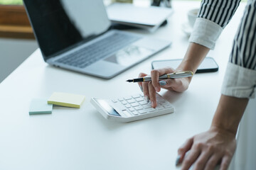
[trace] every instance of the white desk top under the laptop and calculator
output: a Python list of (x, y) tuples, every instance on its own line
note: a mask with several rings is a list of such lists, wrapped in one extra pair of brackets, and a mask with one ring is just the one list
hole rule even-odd
[[(90, 98), (112, 98), (140, 92), (127, 79), (150, 72), (151, 61), (183, 57), (188, 38), (181, 31), (186, 12), (198, 1), (174, 1), (167, 26), (149, 36), (171, 39), (173, 45), (110, 80), (50, 67), (36, 50), (0, 84), (0, 169), (178, 169), (178, 147), (207, 130), (220, 96), (220, 87), (242, 6), (210, 52), (219, 72), (196, 74), (188, 91), (160, 94), (175, 113), (133, 123), (113, 123), (97, 113)], [(142, 30), (132, 32), (144, 33)], [(54, 106), (50, 115), (28, 115), (32, 98), (54, 91), (84, 94), (80, 109)]]

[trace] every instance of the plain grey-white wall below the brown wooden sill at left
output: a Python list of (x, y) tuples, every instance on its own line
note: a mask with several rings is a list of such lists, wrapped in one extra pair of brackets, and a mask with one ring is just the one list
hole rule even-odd
[(36, 40), (0, 38), (0, 83), (37, 48)]

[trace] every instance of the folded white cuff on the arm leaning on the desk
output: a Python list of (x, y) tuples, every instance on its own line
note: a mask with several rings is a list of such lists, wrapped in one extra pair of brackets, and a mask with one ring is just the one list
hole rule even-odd
[(255, 98), (256, 70), (228, 62), (221, 94), (237, 98)]

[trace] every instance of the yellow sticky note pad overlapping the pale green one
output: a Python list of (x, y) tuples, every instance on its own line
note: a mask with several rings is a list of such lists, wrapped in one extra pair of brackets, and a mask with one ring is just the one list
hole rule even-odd
[(85, 101), (85, 96), (82, 95), (54, 92), (48, 99), (48, 104), (80, 108), (83, 101)]

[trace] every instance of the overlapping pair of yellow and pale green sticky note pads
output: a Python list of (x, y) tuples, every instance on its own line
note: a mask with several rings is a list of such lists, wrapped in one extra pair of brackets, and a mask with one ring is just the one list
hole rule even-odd
[(82, 102), (85, 101), (85, 96), (78, 94), (66, 94), (54, 92), (47, 99), (33, 99), (29, 109), (29, 114), (44, 114), (52, 113), (53, 105), (66, 106), (71, 108), (80, 108)]

